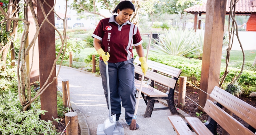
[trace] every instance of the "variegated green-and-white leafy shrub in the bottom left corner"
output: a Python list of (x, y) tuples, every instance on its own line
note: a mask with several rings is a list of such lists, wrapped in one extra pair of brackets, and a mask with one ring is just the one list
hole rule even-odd
[(51, 121), (40, 120), (39, 115), (46, 112), (40, 110), (40, 102), (32, 103), (30, 110), (23, 111), (18, 95), (9, 92), (0, 95), (0, 104), (1, 135), (57, 134)]

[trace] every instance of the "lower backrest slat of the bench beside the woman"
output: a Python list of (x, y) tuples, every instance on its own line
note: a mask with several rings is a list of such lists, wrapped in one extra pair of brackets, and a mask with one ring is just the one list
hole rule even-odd
[[(135, 67), (134, 71), (136, 73), (142, 75), (141, 67), (137, 66), (137, 65), (134, 65), (134, 67)], [(149, 70), (147, 71), (147, 74), (146, 74), (145, 77), (147, 77), (149, 79), (152, 79), (152, 80), (154, 80), (156, 82), (159, 82), (159, 83), (161, 83), (161, 84), (163, 84), (165, 86), (171, 87), (171, 88), (174, 88), (175, 83), (176, 83), (176, 80), (174, 80), (174, 79), (171, 79), (169, 77), (163, 76), (161, 74), (158, 74), (156, 72), (149, 71)]]

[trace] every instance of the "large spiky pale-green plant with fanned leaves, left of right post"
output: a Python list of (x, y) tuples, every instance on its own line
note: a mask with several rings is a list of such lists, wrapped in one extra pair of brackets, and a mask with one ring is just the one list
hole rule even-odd
[(153, 46), (167, 55), (187, 56), (191, 53), (198, 55), (200, 53), (196, 53), (195, 50), (201, 49), (202, 47), (196, 47), (197, 44), (194, 43), (194, 37), (191, 36), (193, 34), (195, 34), (195, 32), (189, 31), (188, 29), (165, 29), (164, 34), (158, 34), (159, 41), (153, 39), (158, 44), (153, 43)]

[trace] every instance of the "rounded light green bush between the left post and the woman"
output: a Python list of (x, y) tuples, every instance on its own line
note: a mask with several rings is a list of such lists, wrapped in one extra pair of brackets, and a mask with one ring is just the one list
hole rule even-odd
[[(75, 54), (80, 53), (81, 49), (84, 49), (84, 47), (86, 46), (86, 42), (85, 41), (78, 41), (75, 39), (67, 39), (67, 49), (64, 55), (64, 60), (67, 60), (69, 58), (69, 52), (72, 51), (75, 56)], [(59, 51), (60, 51), (60, 47), (61, 47), (61, 41), (60, 39), (56, 40), (56, 56), (58, 55)], [(64, 49), (65, 49), (65, 44), (64, 47), (62, 49), (62, 52), (60, 54), (59, 59), (62, 58), (63, 53), (64, 53)]]

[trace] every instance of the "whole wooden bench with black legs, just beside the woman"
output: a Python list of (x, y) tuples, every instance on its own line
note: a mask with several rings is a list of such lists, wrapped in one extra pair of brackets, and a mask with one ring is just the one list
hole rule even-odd
[[(142, 75), (142, 70), (140, 65), (139, 58), (136, 57), (134, 60), (134, 66), (135, 66), (135, 87), (139, 91), (140, 89), (140, 81), (139, 81), (139, 74)], [(147, 105), (146, 112), (144, 114), (144, 117), (151, 117), (152, 111), (154, 110), (165, 110), (169, 109), (172, 114), (178, 114), (173, 101), (173, 95), (174, 95), (174, 88), (176, 85), (176, 82), (180, 76), (181, 70), (178, 68), (174, 68), (165, 64), (160, 64), (151, 60), (147, 60), (148, 68), (151, 69), (151, 71), (148, 69), (146, 78), (149, 79), (148, 84), (143, 84), (141, 95)], [(167, 77), (171, 76), (170, 77)], [(168, 87), (168, 90), (166, 93), (163, 93), (157, 89), (154, 88), (155, 82), (165, 85)], [(154, 104), (158, 100), (166, 100), (168, 103), (168, 107), (165, 108), (155, 108)]]

